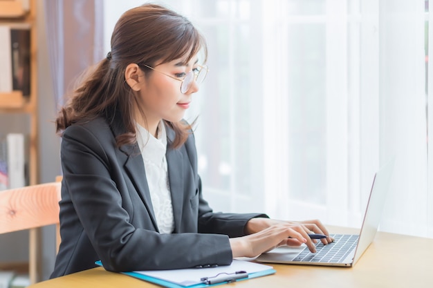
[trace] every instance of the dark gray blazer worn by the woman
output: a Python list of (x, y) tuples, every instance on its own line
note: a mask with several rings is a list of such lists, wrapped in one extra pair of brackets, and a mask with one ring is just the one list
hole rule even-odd
[[(138, 146), (116, 146), (124, 129), (102, 118), (69, 126), (62, 136), (62, 243), (51, 278), (95, 267), (109, 271), (230, 265), (229, 237), (264, 214), (214, 213), (203, 199), (196, 147), (190, 135), (167, 148), (174, 233), (156, 225)], [(167, 128), (167, 142), (174, 131)]]

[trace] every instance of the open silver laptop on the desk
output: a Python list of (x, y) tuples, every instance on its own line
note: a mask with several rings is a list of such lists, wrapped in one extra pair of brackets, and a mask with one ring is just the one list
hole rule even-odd
[(335, 241), (327, 245), (317, 240), (316, 253), (311, 253), (305, 245), (278, 247), (261, 254), (255, 260), (268, 263), (353, 267), (376, 236), (394, 162), (393, 158), (374, 175), (360, 234), (331, 234)]

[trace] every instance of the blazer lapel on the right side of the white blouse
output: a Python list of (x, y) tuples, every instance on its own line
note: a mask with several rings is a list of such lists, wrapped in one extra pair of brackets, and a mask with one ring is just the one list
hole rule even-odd
[(174, 140), (174, 131), (169, 126), (165, 126), (167, 131), (167, 166), (172, 193), (172, 205), (174, 215), (174, 231), (179, 231), (182, 219), (183, 207), (183, 155), (179, 149), (169, 148), (169, 143)]

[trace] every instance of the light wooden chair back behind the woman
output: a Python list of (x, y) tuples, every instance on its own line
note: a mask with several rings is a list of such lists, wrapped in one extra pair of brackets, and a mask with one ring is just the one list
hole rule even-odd
[(60, 244), (60, 182), (0, 191), (0, 234), (29, 229), (30, 282), (38, 278), (39, 227), (56, 224), (56, 253)]

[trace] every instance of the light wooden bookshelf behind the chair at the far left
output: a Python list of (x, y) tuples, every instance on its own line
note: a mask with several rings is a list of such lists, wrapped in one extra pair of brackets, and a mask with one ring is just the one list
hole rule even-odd
[[(25, 26), (30, 30), (30, 92), (23, 95), (21, 90), (0, 90), (0, 117), (2, 121), (8, 119), (11, 122), (25, 122), (25, 131), (7, 131), (7, 128), (0, 127), (0, 133), (24, 133), (27, 138), (26, 154), (27, 159), (27, 181), (28, 184), (39, 183), (38, 173), (38, 111), (37, 111), (37, 0), (0, 0), (0, 26)], [(0, 41), (0, 46), (5, 45)], [(1, 47), (0, 47), (1, 48)], [(4, 47), (3, 47), (4, 48)], [(12, 57), (12, 56), (11, 56)], [(12, 58), (11, 58), (12, 60)], [(3, 66), (3, 65), (2, 65)], [(4, 71), (0, 72), (5, 73)], [(3, 67), (4, 68), (4, 67)], [(5, 131), (6, 130), (6, 131)], [(30, 245), (38, 242), (38, 231), (30, 231)], [(3, 249), (2, 247), (1, 249)], [(30, 282), (36, 282), (39, 278), (37, 271), (38, 257), (29, 255), (28, 262), (0, 262), (0, 269), (13, 270), (17, 273), (28, 273)], [(1, 261), (1, 260), (0, 260)]]

